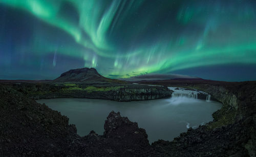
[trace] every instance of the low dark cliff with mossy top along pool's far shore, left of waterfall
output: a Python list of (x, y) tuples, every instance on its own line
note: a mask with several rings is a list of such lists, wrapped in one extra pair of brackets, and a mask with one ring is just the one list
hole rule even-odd
[(11, 83), (9, 85), (31, 99), (93, 98), (136, 101), (168, 98), (172, 95), (172, 91), (167, 87), (137, 84)]

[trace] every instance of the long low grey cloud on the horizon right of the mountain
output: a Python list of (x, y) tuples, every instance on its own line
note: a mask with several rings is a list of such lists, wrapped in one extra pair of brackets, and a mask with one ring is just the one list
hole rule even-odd
[(152, 80), (171, 80), (171, 79), (200, 79), (199, 77), (193, 77), (180, 74), (145, 74), (140, 76), (134, 76), (127, 79), (121, 79), (125, 81), (152, 81)]

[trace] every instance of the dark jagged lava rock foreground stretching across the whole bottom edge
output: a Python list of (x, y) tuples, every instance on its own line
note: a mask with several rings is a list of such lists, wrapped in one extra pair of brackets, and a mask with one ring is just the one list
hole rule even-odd
[[(246, 100), (253, 102), (255, 91), (250, 93)], [(159, 140), (150, 145), (146, 131), (120, 113), (110, 113), (102, 136), (91, 131), (80, 137), (66, 116), (0, 86), (0, 156), (255, 156), (255, 106), (247, 108), (249, 114), (232, 118), (236, 119), (232, 123), (217, 126), (222, 119), (215, 119), (189, 128), (172, 142)]]

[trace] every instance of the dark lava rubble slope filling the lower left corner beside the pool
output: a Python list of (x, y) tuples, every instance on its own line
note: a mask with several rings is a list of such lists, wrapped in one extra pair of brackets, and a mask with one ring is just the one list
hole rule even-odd
[(0, 156), (60, 156), (76, 127), (58, 111), (0, 86)]

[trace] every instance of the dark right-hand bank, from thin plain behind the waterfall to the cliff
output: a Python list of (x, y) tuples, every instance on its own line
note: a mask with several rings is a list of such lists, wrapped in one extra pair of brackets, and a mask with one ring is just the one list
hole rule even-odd
[[(156, 84), (165, 86), (182, 86), (196, 88), (221, 102), (223, 107), (215, 115), (231, 118), (233, 123), (242, 118), (251, 116), (256, 112), (256, 81), (247, 82), (222, 82), (211, 80), (164, 80), (140, 82), (143, 84)], [(218, 114), (219, 113), (219, 114)], [(217, 117), (215, 117), (217, 118)], [(229, 123), (229, 124), (230, 124)]]

